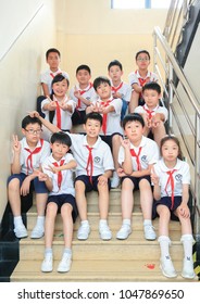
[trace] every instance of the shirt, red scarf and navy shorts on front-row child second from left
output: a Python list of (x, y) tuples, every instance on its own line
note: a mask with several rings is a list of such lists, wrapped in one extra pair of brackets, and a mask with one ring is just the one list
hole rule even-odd
[(71, 204), (73, 207), (73, 221), (75, 221), (77, 217), (77, 206), (75, 201), (73, 170), (65, 169), (54, 174), (47, 169), (49, 166), (63, 166), (73, 160), (74, 157), (71, 153), (66, 153), (59, 162), (55, 161), (51, 154), (42, 163), (42, 170), (51, 178), (53, 183), (52, 191), (49, 192), (48, 203), (54, 202), (59, 206), (59, 212), (63, 204)]

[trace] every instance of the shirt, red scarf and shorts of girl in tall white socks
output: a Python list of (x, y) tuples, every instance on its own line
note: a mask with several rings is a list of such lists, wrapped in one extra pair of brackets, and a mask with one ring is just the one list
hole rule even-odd
[[(168, 169), (161, 159), (154, 164), (155, 175), (159, 176), (159, 186), (161, 187), (161, 200), (153, 204), (153, 216), (157, 216), (158, 204), (166, 205), (171, 212), (174, 212), (182, 203), (183, 185), (190, 185), (190, 170), (188, 163), (177, 159), (174, 168)], [(177, 219), (172, 216), (172, 219)]]

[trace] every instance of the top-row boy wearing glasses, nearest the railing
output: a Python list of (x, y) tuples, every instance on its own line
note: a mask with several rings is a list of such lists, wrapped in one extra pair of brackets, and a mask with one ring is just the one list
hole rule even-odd
[(129, 85), (133, 88), (129, 102), (129, 113), (133, 113), (136, 106), (143, 105), (142, 87), (150, 81), (158, 81), (155, 73), (149, 72), (150, 54), (146, 50), (136, 53), (136, 65), (138, 69), (132, 72), (128, 76)]

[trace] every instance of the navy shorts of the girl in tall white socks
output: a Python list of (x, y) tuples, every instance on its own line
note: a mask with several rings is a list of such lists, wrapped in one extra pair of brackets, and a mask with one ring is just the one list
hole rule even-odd
[(174, 212), (177, 210), (177, 207), (180, 205), (180, 203), (182, 203), (182, 197), (174, 197), (174, 206), (171, 210), (171, 206), (172, 206), (171, 197), (163, 197), (163, 198), (161, 198), (160, 201), (153, 201), (152, 219), (154, 219), (155, 217), (159, 217), (159, 214), (157, 212), (157, 206), (164, 205), (164, 206), (167, 206), (171, 212), (171, 219), (179, 220), (179, 218), (174, 214)]

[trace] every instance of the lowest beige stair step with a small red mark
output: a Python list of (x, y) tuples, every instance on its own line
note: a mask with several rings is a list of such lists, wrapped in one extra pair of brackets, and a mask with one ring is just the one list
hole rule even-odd
[(182, 261), (174, 261), (174, 266), (178, 273), (177, 278), (174, 279), (167, 279), (162, 275), (159, 261), (155, 258), (147, 261), (97, 259), (95, 263), (79, 258), (78, 261), (73, 261), (71, 271), (66, 274), (57, 271), (58, 264), (59, 261), (54, 261), (53, 271), (43, 274), (40, 271), (41, 261), (24, 261), (23, 264), (16, 266), (11, 277), (11, 282), (187, 281), (180, 276)]

